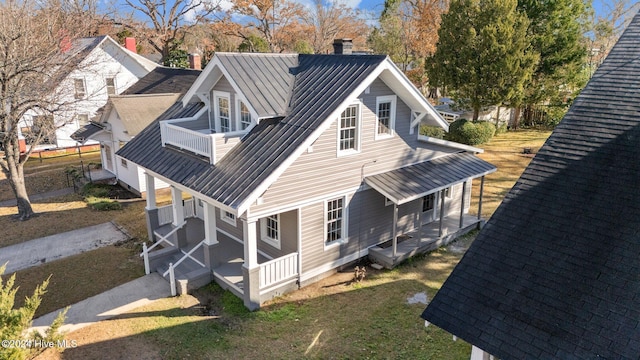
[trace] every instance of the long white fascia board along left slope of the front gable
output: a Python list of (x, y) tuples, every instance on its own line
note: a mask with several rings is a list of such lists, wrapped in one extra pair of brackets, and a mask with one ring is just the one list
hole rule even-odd
[[(389, 59), (389, 58), (387, 57), (387, 59)], [(269, 186), (271, 186), (271, 184), (273, 184), (280, 177), (280, 175), (282, 175), (282, 173), (287, 168), (289, 168), (289, 166), (291, 166), (291, 164), (293, 164), (293, 162), (296, 159), (298, 159), (298, 157), (300, 157), (300, 155), (303, 152), (307, 151), (307, 148), (309, 146), (311, 146), (311, 144), (313, 144), (313, 142), (316, 141), (320, 137), (320, 135), (322, 135), (322, 133), (324, 133), (331, 126), (331, 124), (334, 121), (338, 120), (338, 117), (347, 108), (347, 106), (351, 105), (354, 102), (354, 100), (356, 100), (358, 98), (358, 96), (360, 96), (360, 94), (362, 92), (364, 92), (364, 90), (367, 87), (369, 87), (371, 85), (371, 83), (373, 83), (373, 81), (375, 79), (377, 79), (378, 76), (380, 76), (380, 74), (385, 69), (388, 68), (389, 62), (390, 62), (390, 60), (381, 62), (378, 65), (378, 67), (375, 68), (371, 72), (371, 74), (369, 74), (369, 76), (367, 76), (366, 79), (364, 79), (364, 81), (362, 81), (360, 83), (360, 85), (358, 85), (358, 87), (356, 87), (355, 90), (349, 96), (347, 96), (345, 101), (343, 101), (342, 104), (340, 104), (338, 107), (336, 107), (336, 109), (331, 114), (329, 114), (329, 116), (326, 119), (324, 119), (322, 124), (320, 126), (318, 126), (318, 128), (316, 130), (314, 130), (311, 133), (311, 135), (309, 135), (305, 139), (305, 141), (293, 152), (293, 154), (291, 154), (282, 164), (280, 164), (280, 166), (277, 169), (275, 169), (267, 177), (267, 179), (262, 182), (262, 184), (257, 186), (249, 194), (249, 196), (247, 196), (247, 198), (244, 199), (244, 201), (242, 203), (240, 203), (240, 205), (238, 206), (238, 213), (242, 214), (245, 211), (247, 211), (251, 207), (251, 204), (253, 204), (256, 201), (256, 199), (258, 199), (258, 197), (260, 197), (262, 195), (262, 193), (267, 191)]]

